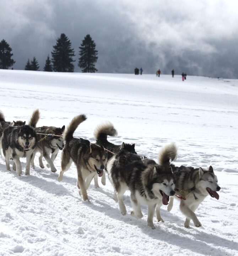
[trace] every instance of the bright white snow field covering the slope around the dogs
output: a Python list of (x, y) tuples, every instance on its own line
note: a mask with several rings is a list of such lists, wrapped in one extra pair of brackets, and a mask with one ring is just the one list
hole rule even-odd
[[(178, 201), (171, 212), (161, 208), (164, 223), (155, 230), (142, 219), (120, 214), (113, 189), (94, 188), (82, 201), (71, 165), (62, 182), (56, 173), (41, 169), (25, 176), (6, 171), (0, 157), (0, 255), (238, 255), (238, 80), (187, 76), (133, 74), (47, 73), (0, 70), (0, 110), (7, 121), (28, 121), (39, 108), (38, 126), (62, 127), (77, 114), (88, 119), (75, 137), (94, 142), (93, 130), (110, 121), (115, 144), (135, 143), (136, 151), (156, 160), (159, 149), (176, 142), (176, 165), (213, 166), (221, 186), (220, 199), (206, 197), (196, 215), (202, 223), (184, 228)], [(46, 166), (46, 162), (44, 160)]]

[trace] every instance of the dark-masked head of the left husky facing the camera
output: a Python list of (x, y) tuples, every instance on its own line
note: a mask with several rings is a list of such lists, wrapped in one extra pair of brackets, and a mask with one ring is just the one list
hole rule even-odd
[(36, 132), (31, 126), (20, 126), (17, 142), (24, 151), (28, 151), (31, 148), (34, 148), (37, 143)]

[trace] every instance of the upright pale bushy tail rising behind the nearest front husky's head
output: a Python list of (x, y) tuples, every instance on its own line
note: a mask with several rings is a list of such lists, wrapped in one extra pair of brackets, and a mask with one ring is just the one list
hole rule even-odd
[(160, 165), (169, 165), (177, 158), (178, 148), (174, 142), (168, 143), (163, 146), (158, 154), (158, 163)]

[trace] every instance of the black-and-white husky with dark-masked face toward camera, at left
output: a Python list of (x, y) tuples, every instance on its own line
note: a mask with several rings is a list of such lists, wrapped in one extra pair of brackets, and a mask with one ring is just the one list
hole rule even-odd
[(37, 145), (37, 135), (33, 127), (39, 119), (39, 110), (36, 109), (29, 121), (29, 125), (9, 126), (4, 129), (1, 138), (2, 151), (5, 157), (6, 169), (10, 169), (9, 159), (13, 159), (12, 169), (17, 175), (22, 174), (20, 158), (26, 157), (26, 175), (30, 174), (30, 164), (34, 149)]

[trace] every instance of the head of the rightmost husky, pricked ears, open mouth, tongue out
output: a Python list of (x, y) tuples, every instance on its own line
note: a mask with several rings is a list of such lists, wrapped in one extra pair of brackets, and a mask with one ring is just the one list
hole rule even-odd
[(211, 197), (215, 197), (218, 200), (219, 195), (216, 191), (220, 191), (221, 188), (217, 184), (217, 176), (214, 174), (212, 166), (210, 166), (208, 170), (203, 170), (199, 167), (199, 179), (200, 186), (206, 190)]

